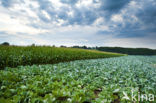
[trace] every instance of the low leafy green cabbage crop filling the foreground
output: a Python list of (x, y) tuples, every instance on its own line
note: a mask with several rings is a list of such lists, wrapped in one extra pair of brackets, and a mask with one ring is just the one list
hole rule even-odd
[(0, 71), (0, 103), (156, 103), (156, 56), (19, 66)]

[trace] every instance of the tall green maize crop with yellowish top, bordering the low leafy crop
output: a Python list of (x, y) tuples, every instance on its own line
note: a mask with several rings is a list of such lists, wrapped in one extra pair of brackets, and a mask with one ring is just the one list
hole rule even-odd
[(0, 69), (19, 65), (54, 64), (73, 60), (118, 56), (123, 55), (74, 48), (0, 46)]

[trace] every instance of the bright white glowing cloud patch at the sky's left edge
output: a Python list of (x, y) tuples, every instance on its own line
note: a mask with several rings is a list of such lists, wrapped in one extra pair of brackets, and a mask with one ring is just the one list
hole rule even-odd
[(33, 27), (27, 26), (28, 21), (25, 19), (12, 18), (9, 14), (0, 12), (0, 31), (5, 31), (10, 34), (17, 32), (28, 34), (39, 34), (46, 32), (46, 30), (38, 30)]

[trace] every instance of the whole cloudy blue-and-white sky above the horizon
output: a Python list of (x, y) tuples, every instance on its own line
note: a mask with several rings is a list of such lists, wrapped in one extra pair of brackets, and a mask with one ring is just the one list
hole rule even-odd
[(0, 0), (0, 43), (156, 49), (156, 0)]

